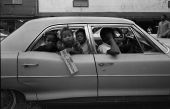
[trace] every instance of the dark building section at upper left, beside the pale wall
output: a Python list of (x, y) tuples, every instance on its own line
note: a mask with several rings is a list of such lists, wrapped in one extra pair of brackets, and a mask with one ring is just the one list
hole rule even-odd
[(37, 15), (37, 0), (0, 0), (0, 30), (11, 33)]

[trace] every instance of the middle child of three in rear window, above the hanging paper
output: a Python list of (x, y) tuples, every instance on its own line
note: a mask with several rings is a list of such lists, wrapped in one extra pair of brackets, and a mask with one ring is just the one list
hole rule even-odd
[(66, 49), (67, 52), (70, 54), (83, 53), (80, 43), (74, 40), (73, 32), (68, 27), (64, 27), (61, 30), (60, 36), (61, 36), (61, 41), (63, 43), (63, 46), (60, 48), (60, 50)]

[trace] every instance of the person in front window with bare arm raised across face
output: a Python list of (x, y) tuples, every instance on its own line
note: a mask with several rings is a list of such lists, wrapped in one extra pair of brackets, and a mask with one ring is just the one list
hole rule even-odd
[(111, 28), (102, 28), (100, 36), (104, 43), (99, 46), (99, 53), (107, 53), (111, 55), (120, 53), (120, 49), (114, 40), (115, 34)]

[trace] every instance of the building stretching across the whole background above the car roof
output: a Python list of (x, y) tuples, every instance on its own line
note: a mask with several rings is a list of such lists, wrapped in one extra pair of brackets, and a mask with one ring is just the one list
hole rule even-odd
[(8, 25), (9, 32), (29, 19), (46, 16), (123, 17), (145, 30), (151, 26), (153, 32), (162, 14), (170, 18), (170, 0), (1, 0), (0, 6), (1, 26)]

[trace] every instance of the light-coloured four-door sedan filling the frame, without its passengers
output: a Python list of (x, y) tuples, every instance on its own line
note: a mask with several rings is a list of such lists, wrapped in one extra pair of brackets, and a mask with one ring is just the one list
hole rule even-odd
[[(49, 32), (60, 39), (64, 27), (71, 29), (74, 37), (79, 29), (85, 30), (88, 53), (36, 50), (44, 45)], [(113, 31), (119, 54), (99, 52), (104, 44), (100, 36), (103, 28)], [(31, 20), (1, 42), (1, 94), (1, 100), (8, 101), (4, 107), (14, 106), (15, 98), (122, 102), (149, 97), (167, 101), (170, 100), (170, 51), (127, 19)]]

